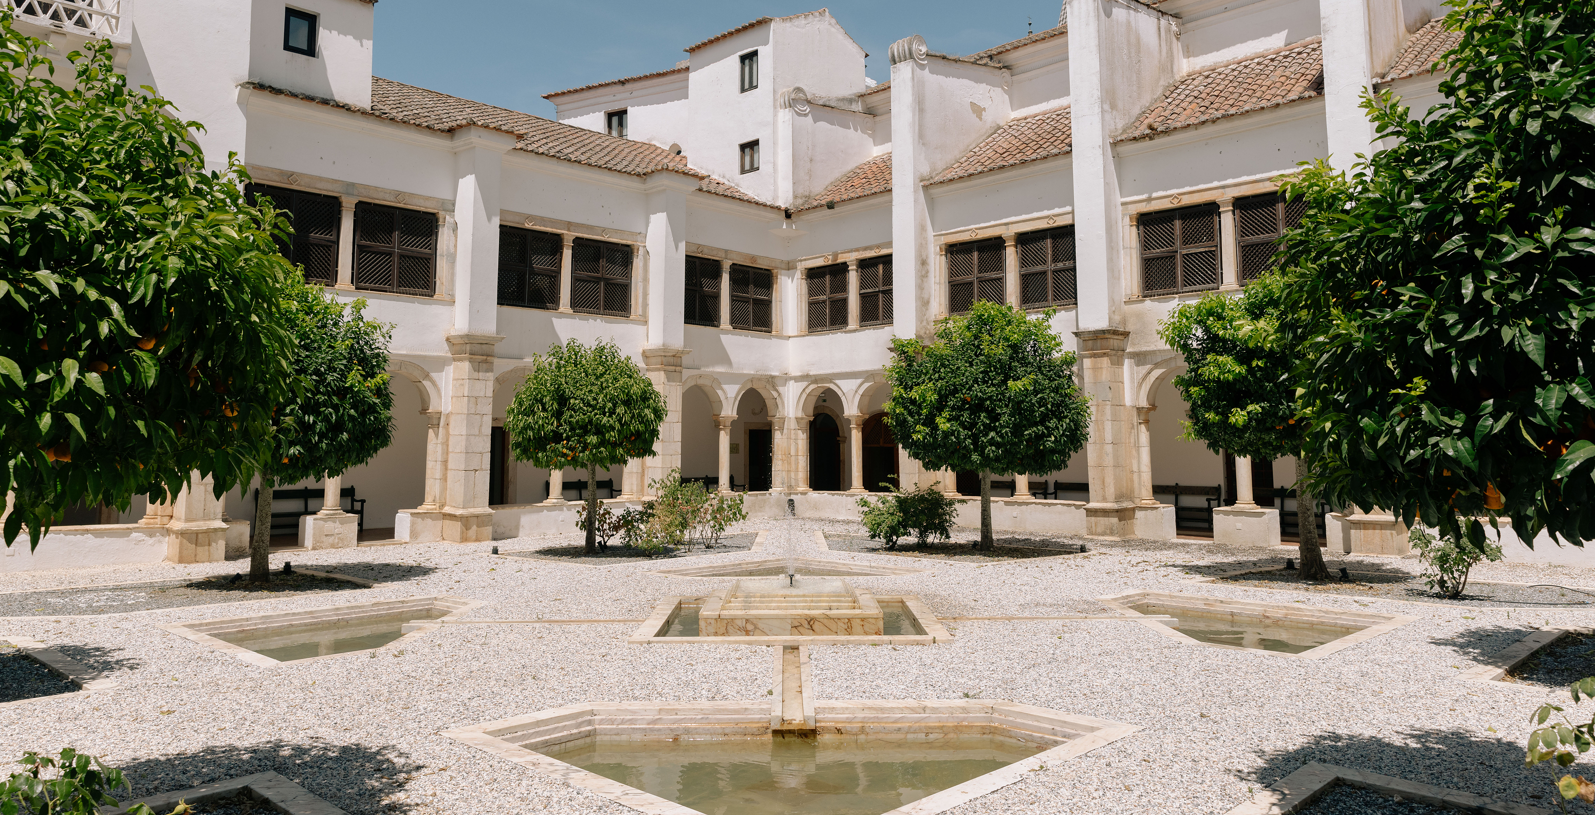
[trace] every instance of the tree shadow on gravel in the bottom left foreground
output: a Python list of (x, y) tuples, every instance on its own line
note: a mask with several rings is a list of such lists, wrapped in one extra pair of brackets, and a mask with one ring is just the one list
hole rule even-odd
[(349, 815), (416, 812), (412, 801), (384, 801), (402, 793), (400, 774), (429, 774), (392, 746), (329, 745), (284, 740), (255, 745), (219, 745), (195, 753), (148, 758), (120, 767), (132, 783), (132, 796), (188, 789), (203, 783), (255, 772), (278, 772), (313, 796)]

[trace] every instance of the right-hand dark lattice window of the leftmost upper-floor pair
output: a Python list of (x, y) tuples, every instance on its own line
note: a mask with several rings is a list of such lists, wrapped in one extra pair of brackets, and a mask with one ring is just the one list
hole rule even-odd
[(354, 206), (354, 287), (432, 295), (437, 215), (360, 201)]

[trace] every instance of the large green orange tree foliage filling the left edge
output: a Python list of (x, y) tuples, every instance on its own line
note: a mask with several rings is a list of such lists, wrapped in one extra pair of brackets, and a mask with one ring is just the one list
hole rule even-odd
[(289, 392), (284, 222), (206, 172), (198, 123), (129, 89), (112, 48), (67, 54), (0, 21), (0, 461), (5, 541), (75, 502), (247, 482)]

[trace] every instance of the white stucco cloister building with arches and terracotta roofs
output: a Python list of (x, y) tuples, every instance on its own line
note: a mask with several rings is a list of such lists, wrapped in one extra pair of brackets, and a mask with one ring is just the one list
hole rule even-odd
[[(842, 515), (893, 474), (951, 490), (882, 431), (880, 367), (975, 297), (1056, 309), (1094, 402), (1088, 448), (1019, 477), (998, 526), (1278, 542), (1294, 502), (1265, 490), (1294, 463), (1179, 439), (1158, 321), (1260, 273), (1294, 215), (1274, 179), (1370, 150), (1369, 86), (1439, 100), (1453, 43), (1437, 0), (1067, 0), (976, 54), (906, 37), (876, 85), (820, 10), (549, 93), (550, 121), (372, 77), (367, 0), (0, 2), (62, 53), (118, 43), (131, 85), (206, 124), (212, 164), (236, 152), (293, 212), (290, 258), (396, 325), (394, 445), (341, 485), (370, 528), (463, 542), (569, 528), (499, 429), (528, 357), (569, 338), (614, 340), (668, 404), (616, 496), (673, 467), (751, 488), (754, 512)], [(1247, 493), (1276, 509), (1214, 520)], [(1394, 530), (1329, 523), (1359, 549)]]

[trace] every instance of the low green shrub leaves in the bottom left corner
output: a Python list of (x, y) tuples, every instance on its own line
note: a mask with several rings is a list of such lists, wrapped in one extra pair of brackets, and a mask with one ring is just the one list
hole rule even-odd
[[(18, 761), (27, 767), (0, 782), (0, 815), (94, 815), (100, 807), (116, 807), (112, 793), (128, 789), (121, 770), (100, 759), (64, 748), (59, 756), (24, 753)], [(169, 815), (191, 812), (182, 801)], [(129, 815), (155, 815), (144, 804), (134, 804)]]

